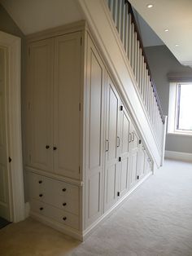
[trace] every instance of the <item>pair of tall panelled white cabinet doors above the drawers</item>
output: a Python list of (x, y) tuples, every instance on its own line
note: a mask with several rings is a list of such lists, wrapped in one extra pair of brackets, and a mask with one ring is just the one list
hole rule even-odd
[(28, 45), (27, 166), (79, 179), (80, 90), (80, 32)]

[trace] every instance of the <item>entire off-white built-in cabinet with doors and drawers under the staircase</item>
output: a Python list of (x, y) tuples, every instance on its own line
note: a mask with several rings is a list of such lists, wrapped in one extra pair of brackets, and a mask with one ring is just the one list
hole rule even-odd
[(24, 156), (31, 215), (76, 238), (151, 160), (85, 23), (28, 37)]

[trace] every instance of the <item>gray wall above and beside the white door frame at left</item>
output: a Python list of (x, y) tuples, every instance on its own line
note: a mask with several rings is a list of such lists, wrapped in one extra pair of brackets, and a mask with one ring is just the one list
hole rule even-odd
[[(21, 38), (21, 90), (24, 88), (24, 46), (25, 46), (25, 37), (24, 33), (21, 32), (20, 28), (15, 24), (14, 20), (11, 19), (11, 16), (0, 4), (0, 30), (6, 33), (11, 33), (19, 38)], [(24, 191), (25, 191), (25, 201), (28, 198), (27, 188), (25, 183), (25, 172), (24, 172)]]

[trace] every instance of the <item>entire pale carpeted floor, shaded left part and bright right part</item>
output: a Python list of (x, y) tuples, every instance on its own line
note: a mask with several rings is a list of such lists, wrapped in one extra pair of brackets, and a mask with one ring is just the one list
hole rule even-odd
[(84, 242), (28, 218), (0, 230), (2, 256), (192, 256), (192, 164), (166, 161)]

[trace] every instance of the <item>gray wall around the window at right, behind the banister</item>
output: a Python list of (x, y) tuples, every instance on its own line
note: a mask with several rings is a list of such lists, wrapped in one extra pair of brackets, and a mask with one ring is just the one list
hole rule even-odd
[[(169, 82), (167, 74), (177, 72), (192, 73), (192, 69), (182, 66), (172, 55), (171, 51), (168, 50), (167, 46), (151, 46), (146, 47), (145, 50), (164, 115), (168, 115)], [(167, 135), (165, 149), (192, 153), (192, 137)]]

